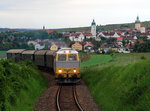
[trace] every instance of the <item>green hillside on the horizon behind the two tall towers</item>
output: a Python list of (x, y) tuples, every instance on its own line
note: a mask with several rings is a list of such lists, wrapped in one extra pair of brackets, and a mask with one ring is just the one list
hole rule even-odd
[[(150, 27), (150, 21), (141, 22), (146, 27)], [(114, 30), (114, 29), (125, 29), (125, 28), (134, 28), (135, 23), (124, 23), (124, 24), (109, 24), (109, 25), (101, 25), (97, 26), (97, 31), (107, 31), (107, 30)], [(79, 30), (90, 30), (91, 27), (76, 27), (76, 28), (62, 28), (56, 29), (58, 32), (70, 32), (70, 31), (79, 31)]]

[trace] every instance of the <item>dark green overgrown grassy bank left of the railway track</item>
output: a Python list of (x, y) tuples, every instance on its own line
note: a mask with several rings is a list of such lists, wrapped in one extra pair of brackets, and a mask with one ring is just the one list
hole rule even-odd
[(47, 79), (29, 61), (0, 60), (0, 111), (33, 111)]

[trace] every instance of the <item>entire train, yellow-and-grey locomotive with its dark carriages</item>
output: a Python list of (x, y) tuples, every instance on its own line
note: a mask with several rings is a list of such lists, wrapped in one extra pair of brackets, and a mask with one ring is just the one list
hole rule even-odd
[(7, 51), (7, 59), (14, 62), (33, 61), (39, 69), (53, 71), (57, 83), (80, 82), (79, 53), (71, 48), (62, 48), (58, 51), (11, 49)]

